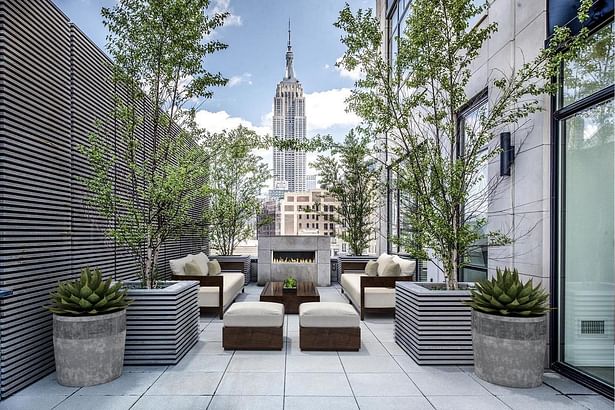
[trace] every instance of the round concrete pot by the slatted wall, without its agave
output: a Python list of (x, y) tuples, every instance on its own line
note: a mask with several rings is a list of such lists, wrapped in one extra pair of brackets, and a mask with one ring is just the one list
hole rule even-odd
[(126, 310), (96, 316), (53, 315), (58, 382), (92, 386), (117, 379), (124, 366)]

